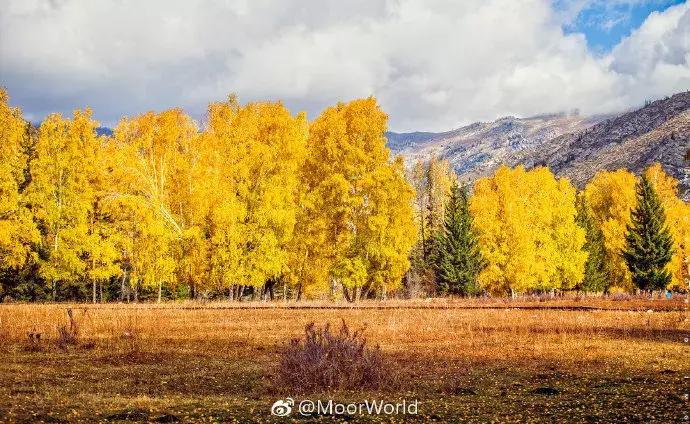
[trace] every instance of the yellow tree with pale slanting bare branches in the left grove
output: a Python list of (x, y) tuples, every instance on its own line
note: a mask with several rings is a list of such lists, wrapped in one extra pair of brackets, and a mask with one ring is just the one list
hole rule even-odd
[(176, 247), (189, 234), (192, 209), (187, 167), (190, 149), (198, 137), (194, 121), (181, 109), (148, 112), (120, 121), (114, 133), (118, 151), (117, 193), (131, 212), (129, 233), (140, 233), (132, 244), (131, 283), (158, 289), (174, 287)]

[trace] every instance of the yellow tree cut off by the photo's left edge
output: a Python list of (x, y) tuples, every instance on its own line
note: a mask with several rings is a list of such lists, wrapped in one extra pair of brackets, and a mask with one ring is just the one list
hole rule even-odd
[(21, 110), (8, 103), (7, 92), (0, 88), (0, 269), (24, 265), (38, 240), (20, 192), (27, 169), (23, 145), (28, 124)]

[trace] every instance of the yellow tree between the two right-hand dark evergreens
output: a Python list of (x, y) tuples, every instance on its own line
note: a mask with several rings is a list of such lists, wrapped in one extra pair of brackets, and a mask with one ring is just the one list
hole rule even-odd
[(621, 252), (630, 223), (630, 211), (637, 202), (635, 176), (626, 170), (601, 171), (584, 189), (594, 220), (604, 234), (607, 273), (611, 285), (632, 290), (632, 277)]

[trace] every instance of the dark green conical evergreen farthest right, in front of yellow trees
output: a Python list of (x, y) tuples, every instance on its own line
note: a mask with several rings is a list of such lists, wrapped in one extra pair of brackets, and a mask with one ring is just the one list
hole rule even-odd
[(673, 255), (673, 239), (666, 225), (664, 208), (646, 175), (636, 186), (637, 207), (625, 236), (623, 258), (633, 283), (642, 290), (661, 290), (671, 281), (666, 265)]

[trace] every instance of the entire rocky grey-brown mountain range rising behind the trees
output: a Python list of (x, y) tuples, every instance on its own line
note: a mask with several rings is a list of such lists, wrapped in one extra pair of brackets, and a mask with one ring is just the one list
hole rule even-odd
[(445, 133), (388, 133), (393, 153), (406, 163), (436, 155), (461, 180), (490, 175), (502, 164), (546, 165), (582, 188), (597, 171), (618, 168), (637, 174), (661, 163), (690, 198), (690, 91), (620, 116), (543, 115), (501, 118)]

